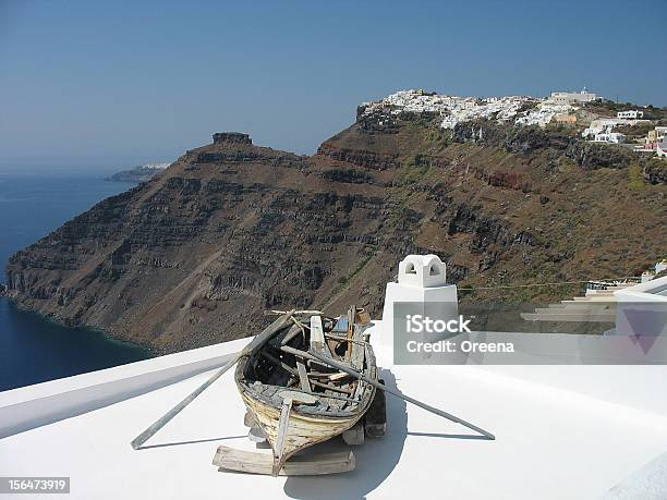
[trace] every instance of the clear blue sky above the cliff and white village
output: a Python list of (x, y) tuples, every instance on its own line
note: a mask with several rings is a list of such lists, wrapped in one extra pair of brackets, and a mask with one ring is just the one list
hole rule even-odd
[[(667, 106), (667, 0), (0, 0), (0, 161), (296, 153), (402, 88)], [(9, 160), (8, 160), (9, 159)]]

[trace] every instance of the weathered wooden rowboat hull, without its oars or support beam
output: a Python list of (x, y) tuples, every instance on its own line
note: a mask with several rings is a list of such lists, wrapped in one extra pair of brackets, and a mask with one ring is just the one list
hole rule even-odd
[(239, 358), (237, 387), (247, 424), (260, 429), (272, 449), (272, 475), (300, 450), (353, 427), (368, 410), (376, 387), (339, 368), (343, 363), (377, 380), (365, 333), (369, 325), (355, 307), (339, 318), (292, 314), (283, 328)]

